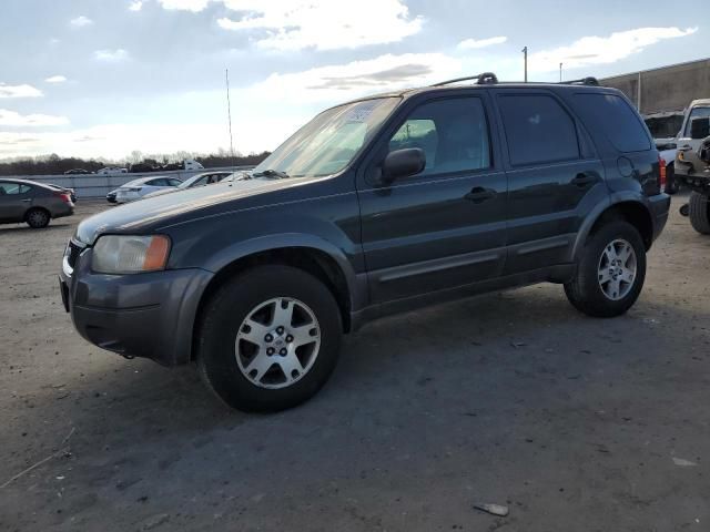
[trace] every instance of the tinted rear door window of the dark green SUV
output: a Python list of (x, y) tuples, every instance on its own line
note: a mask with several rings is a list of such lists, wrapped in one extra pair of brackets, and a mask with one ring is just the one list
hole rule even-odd
[(514, 165), (579, 158), (577, 127), (552, 96), (516, 94), (498, 100)]

